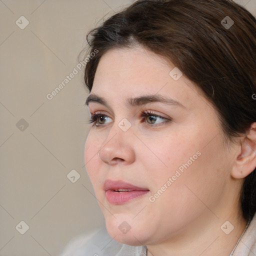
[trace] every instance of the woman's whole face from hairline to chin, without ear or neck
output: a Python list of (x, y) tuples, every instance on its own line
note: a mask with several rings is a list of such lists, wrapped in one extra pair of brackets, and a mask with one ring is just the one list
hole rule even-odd
[(85, 165), (107, 230), (121, 243), (194, 234), (206, 220), (220, 226), (233, 205), (236, 149), (227, 149), (215, 110), (174, 67), (136, 47), (108, 50), (95, 73), (90, 95), (99, 98), (88, 107), (99, 116)]

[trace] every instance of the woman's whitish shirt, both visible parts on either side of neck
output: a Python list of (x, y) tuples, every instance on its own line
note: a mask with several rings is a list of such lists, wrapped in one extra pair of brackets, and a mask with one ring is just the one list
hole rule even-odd
[[(121, 244), (115, 241), (105, 228), (101, 228), (72, 239), (60, 256), (146, 256), (146, 246)], [(232, 256), (256, 256), (256, 214)]]

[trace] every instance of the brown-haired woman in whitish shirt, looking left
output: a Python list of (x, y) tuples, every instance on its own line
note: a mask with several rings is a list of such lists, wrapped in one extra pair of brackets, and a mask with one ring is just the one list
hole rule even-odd
[(138, 0), (88, 35), (85, 165), (107, 232), (64, 255), (256, 255), (255, 18)]

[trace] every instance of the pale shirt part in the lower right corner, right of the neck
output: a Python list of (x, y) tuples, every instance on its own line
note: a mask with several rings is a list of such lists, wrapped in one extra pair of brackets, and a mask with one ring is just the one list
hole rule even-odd
[(233, 253), (233, 256), (254, 255), (256, 255), (256, 213), (254, 214), (254, 217), (250, 221)]

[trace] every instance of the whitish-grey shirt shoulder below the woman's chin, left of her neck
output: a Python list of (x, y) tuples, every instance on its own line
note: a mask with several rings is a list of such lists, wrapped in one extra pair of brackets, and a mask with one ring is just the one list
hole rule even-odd
[(115, 241), (106, 228), (99, 228), (73, 238), (59, 256), (146, 256), (145, 246), (131, 246)]

